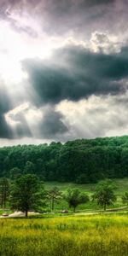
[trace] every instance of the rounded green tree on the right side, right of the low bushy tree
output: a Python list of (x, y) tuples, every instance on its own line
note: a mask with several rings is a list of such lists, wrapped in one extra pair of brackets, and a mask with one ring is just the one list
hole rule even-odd
[(96, 192), (93, 195), (93, 200), (96, 199), (98, 205), (104, 208), (106, 211), (107, 206), (113, 205), (116, 201), (116, 195), (114, 195), (115, 184), (111, 180), (105, 180), (97, 184)]

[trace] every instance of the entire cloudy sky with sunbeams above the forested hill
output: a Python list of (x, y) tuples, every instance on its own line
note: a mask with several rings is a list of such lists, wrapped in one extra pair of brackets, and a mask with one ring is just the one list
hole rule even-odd
[(128, 134), (128, 0), (0, 0), (0, 147)]

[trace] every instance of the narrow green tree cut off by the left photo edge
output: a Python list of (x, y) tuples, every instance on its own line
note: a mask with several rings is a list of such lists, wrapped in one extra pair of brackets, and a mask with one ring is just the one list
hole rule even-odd
[(9, 181), (6, 177), (0, 179), (0, 204), (5, 208), (9, 199)]

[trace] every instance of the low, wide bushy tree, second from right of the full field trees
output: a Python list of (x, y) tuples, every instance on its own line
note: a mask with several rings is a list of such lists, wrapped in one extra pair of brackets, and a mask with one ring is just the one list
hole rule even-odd
[(76, 208), (89, 201), (89, 196), (82, 194), (79, 189), (68, 189), (67, 195), (65, 195), (65, 200), (67, 201), (69, 207), (73, 208), (73, 212), (76, 211)]

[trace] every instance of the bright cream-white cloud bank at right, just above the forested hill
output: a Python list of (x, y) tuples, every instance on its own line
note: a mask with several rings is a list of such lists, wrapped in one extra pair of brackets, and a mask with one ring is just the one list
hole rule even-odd
[[(128, 133), (128, 94), (91, 96), (80, 102), (61, 102), (56, 108), (64, 115), (71, 138), (118, 136)], [(64, 138), (65, 139), (65, 138)]]

